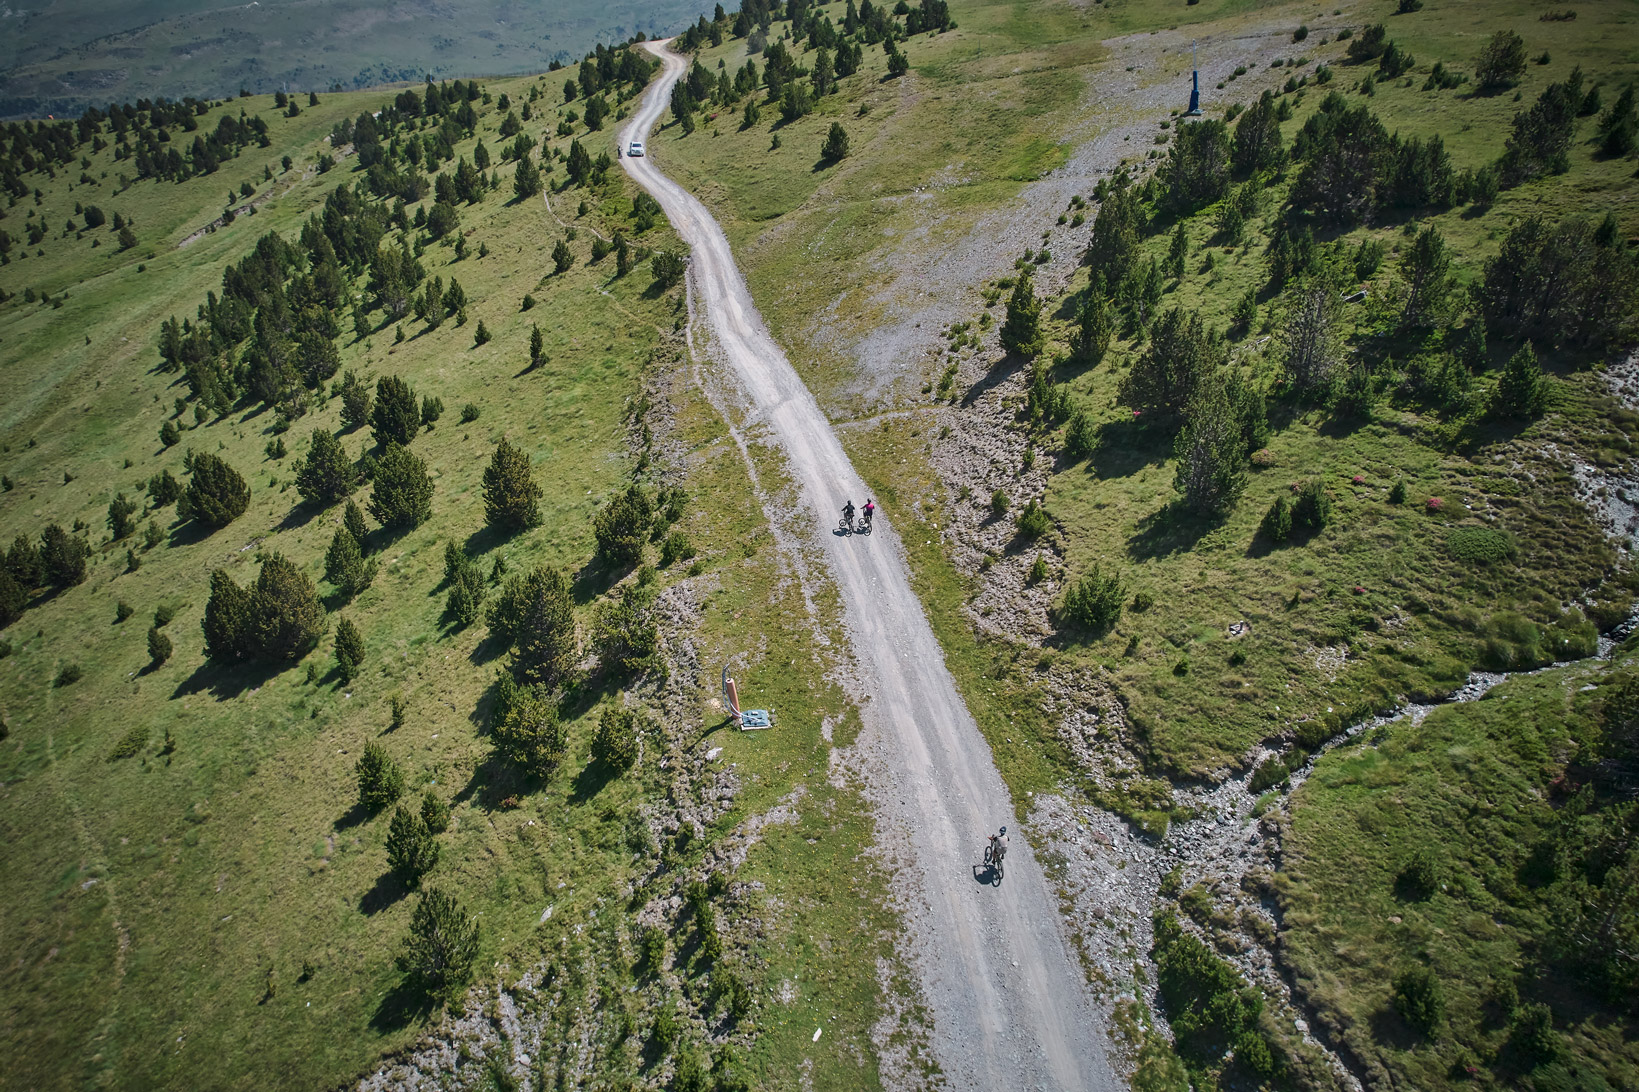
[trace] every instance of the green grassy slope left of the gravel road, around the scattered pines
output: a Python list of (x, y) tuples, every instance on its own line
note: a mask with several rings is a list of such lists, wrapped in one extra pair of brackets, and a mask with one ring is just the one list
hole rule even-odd
[[(531, 85), (498, 80), (487, 90), (518, 102)], [(552, 102), (559, 89), (552, 80)], [(56, 225), (75, 216), (75, 202), (98, 203), (110, 218), (133, 218), (139, 243), (118, 251), (107, 226), (82, 238), (56, 231), (0, 269), (0, 285), (13, 293), (0, 305), (0, 462), (11, 482), (0, 494), (0, 538), (34, 536), (48, 521), (84, 521), (93, 546), (84, 584), (39, 597), (3, 633), (10, 651), (0, 659), (8, 728), (0, 741), (0, 836), (8, 880), (0, 946), (13, 958), (0, 971), (0, 1087), (262, 1087), (270, 1076), (279, 1084), (334, 1085), (410, 1048), (428, 1030), (428, 1013), (400, 989), (393, 956), (415, 897), (387, 874), (387, 815), (356, 808), (352, 767), (369, 741), (405, 767), (413, 800), (431, 789), (454, 805), (428, 882), (454, 890), (482, 921), (480, 984), (510, 987), (543, 961), (602, 967), (588, 987), (602, 999), (588, 1010), (597, 1049), (585, 1059), (543, 1051), (534, 1062), (543, 1081), (557, 1079), (562, 1066), (583, 1066), (582, 1076), (657, 1077), (675, 1067), (672, 1053), (647, 1046), (657, 1007), (682, 997), (683, 1012), (710, 1015), (721, 1000), (711, 985), (723, 979), (695, 953), (687, 918), (675, 917), (661, 918), (679, 930), (664, 972), (639, 972), (633, 918), (682, 879), (703, 877), (728, 831), (801, 785), (801, 825), (790, 828), (793, 836), (772, 830), (744, 866), (762, 887), (731, 889), (718, 910), (724, 954), (716, 962), (749, 982), (752, 1015), (734, 1021), (718, 1012), (713, 1026), (751, 1049), (767, 1087), (795, 1087), (800, 1074), (818, 1087), (860, 1087), (874, 1079), (879, 987), (875, 962), (847, 953), (859, 951), (862, 930), (888, 936), (892, 917), (875, 895), (872, 869), (854, 861), (870, 841), (869, 823), (849, 818), (860, 813), (859, 802), (828, 780), (833, 741), (821, 721), (836, 720), (834, 744), (851, 735), (841, 695), (813, 682), (824, 676), (829, 653), (813, 635), (780, 623), (801, 610), (801, 598), (756, 508), (726, 505), (721, 515), (706, 500), (749, 490), (715, 412), (674, 384), (669, 451), (692, 454), (669, 472), (683, 471), (679, 484), (697, 497), (680, 530), (700, 556), (659, 582), (698, 589), (700, 607), (683, 612), (679, 636), (703, 661), (698, 689), (685, 674), (682, 705), (672, 698), (675, 753), (652, 736), (631, 776), (602, 784), (587, 769), (590, 739), (602, 702), (616, 692), (597, 680), (569, 708), (569, 753), (557, 777), (543, 785), (513, 774), (482, 735), (485, 692), (503, 662), (498, 649), (485, 644), (482, 623), (456, 630), (443, 617), (447, 541), (467, 544), (485, 572), (502, 557), (511, 572), (543, 562), (579, 571), (592, 553), (590, 516), (639, 471), (631, 439), (639, 425), (629, 413), (646, 377), (675, 367), (680, 293), (651, 285), (647, 264), (618, 277), (613, 256), (590, 262), (593, 233), (621, 228), (651, 246), (670, 238), (664, 225), (636, 231), (620, 171), (600, 190), (554, 195), (554, 215), (541, 198), (510, 200), (511, 167), (502, 166), (502, 192), (461, 208), (469, 256), (454, 257), (451, 236), (421, 257), (429, 277), (459, 277), (469, 297), (464, 326), (451, 318), (425, 330), (406, 316), (408, 336), (395, 343), (392, 323), (359, 339), (343, 316), (343, 369), (397, 374), (444, 402), (443, 420), (413, 446), (434, 475), (433, 518), (375, 543), (374, 585), (331, 613), (329, 636), (303, 661), (282, 671), (220, 671), (203, 661), (210, 571), (226, 567), (243, 584), (254, 579), (262, 551), (279, 551), (320, 579), (341, 510), (303, 507), (292, 484), (310, 430), (339, 430), (339, 398), (321, 398), (282, 435), (269, 410), (239, 407), (195, 425), (187, 407), (182, 443), (162, 448), (157, 430), (187, 387), (157, 371), (159, 323), (193, 315), (207, 290), (220, 289), (223, 266), (257, 236), (295, 238), (336, 185), (352, 184), (352, 161), (328, 174), (313, 169), (329, 151), (323, 134), (382, 100), (379, 92), (326, 95), (288, 120), (267, 98), (236, 100), (226, 110), (266, 111), (270, 148), (249, 149), (213, 175), (128, 189), (115, 177), (128, 164), (103, 151), (85, 166), (95, 184), (75, 182), (72, 171), (56, 179), (34, 172), (25, 177), (41, 190), (39, 203), (26, 198), (7, 210), (13, 228), (28, 210)], [(503, 111), (474, 105), (479, 133), (456, 151), (470, 157), (484, 139), (498, 156)], [(561, 156), (569, 139), (554, 136), (556, 125), (570, 108), (538, 105), (526, 131), (544, 133)], [(215, 125), (218, 110), (202, 126)], [(588, 136), (583, 125), (570, 128), (593, 154), (608, 146), (608, 130)], [(288, 172), (284, 154), (295, 161)], [(264, 166), (272, 182), (262, 180)], [(254, 216), (179, 248), (241, 180), (270, 200)], [(561, 166), (549, 180), (564, 185)], [(579, 233), (569, 243), (572, 269), (551, 275), (549, 253), (565, 238), (557, 216)], [(93, 239), (102, 244), (93, 248)], [(487, 256), (479, 256), (480, 244)], [(28, 302), (25, 289), (52, 303)], [(521, 312), (526, 293), (538, 303)], [(493, 339), (474, 346), (480, 321)], [(546, 336), (547, 362), (526, 372), (533, 323)], [(480, 415), (461, 423), (469, 402)], [(544, 490), (543, 526), (505, 541), (480, 533), (480, 474), (502, 436), (528, 453)], [(266, 449), (280, 438), (288, 454), (274, 459)], [(349, 456), (370, 443), (365, 430), (343, 431), (341, 439)], [(249, 510), (210, 535), (172, 526), (172, 508), (144, 510), (138, 523), (157, 520), (159, 544), (144, 548), (141, 533), (108, 543), (103, 516), (115, 492), (141, 500), (143, 484), (162, 469), (185, 480), (188, 448), (220, 454), (246, 475)], [(777, 475), (777, 467), (764, 471)], [(365, 487), (356, 497), (362, 503), (367, 495)], [(141, 557), (134, 572), (126, 572), (128, 546)], [(605, 584), (608, 577), (592, 572), (577, 585), (583, 626)], [(121, 602), (134, 615), (116, 623)], [(159, 607), (175, 612), (166, 626), (174, 654), (149, 669), (144, 635)], [(362, 674), (347, 685), (333, 674), (339, 617), (359, 625), (367, 648)], [(747, 625), (779, 638), (747, 643)], [(823, 626), (816, 620), (816, 630)], [(687, 667), (687, 649), (677, 654)], [(708, 697), (728, 657), (739, 657), (744, 692), (779, 708), (780, 730), (720, 730), (700, 744), (723, 748), (718, 766), (733, 767), (739, 789), (728, 810), (708, 812), (703, 838), (667, 848), (661, 866), (661, 846), (642, 835), (638, 817), (669, 813), (675, 794), (695, 792), (667, 769), (685, 767), (701, 733), (720, 728)], [(793, 672), (793, 662), (815, 669)], [(54, 687), (67, 664), (84, 676)], [(657, 707), (656, 687), (651, 679), (634, 697)], [(408, 715), (388, 731), (393, 695), (405, 698)], [(113, 758), (133, 730), (134, 754)], [(162, 751), (167, 735), (174, 753)], [(833, 859), (847, 862), (852, 884), (811, 879), (834, 871)], [(721, 864), (711, 867), (731, 876)], [(774, 915), (764, 899), (787, 910)], [(592, 928), (606, 905), (623, 913), (605, 912)], [(815, 938), (815, 948), (795, 949), (797, 933)], [(793, 959), (793, 951), (803, 954)], [(892, 958), (885, 948), (882, 954)], [(628, 987), (636, 989), (629, 997)], [(811, 1026), (800, 1025), (816, 1012), (844, 1013), (828, 1030), (847, 1049), (801, 1071)], [(710, 1064), (715, 1048), (701, 1043), (703, 1017), (692, 1015), (679, 1049), (703, 1051)]]

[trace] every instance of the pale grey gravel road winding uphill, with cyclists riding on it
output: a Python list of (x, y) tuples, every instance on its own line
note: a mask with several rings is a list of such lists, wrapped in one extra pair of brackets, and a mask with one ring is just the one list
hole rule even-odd
[[(644, 139), (665, 110), (683, 57), (649, 43), (665, 69), (621, 133)], [(754, 415), (780, 439), (788, 471), (821, 526), (865, 497), (824, 413), (769, 334), (711, 213), (651, 157), (621, 157), (692, 248), (690, 285)], [(933, 1051), (954, 1089), (1116, 1089), (1106, 1035), (1062, 931), (1041, 866), (1013, 839), (1000, 887), (977, 882), (983, 838), (1016, 825), (990, 748), (946, 669), (911, 592), (893, 513), (869, 538), (824, 535), (831, 574), (867, 676), (867, 735), (892, 764), (883, 830), (900, 830), (916, 892), (910, 961), (933, 1015)]]

